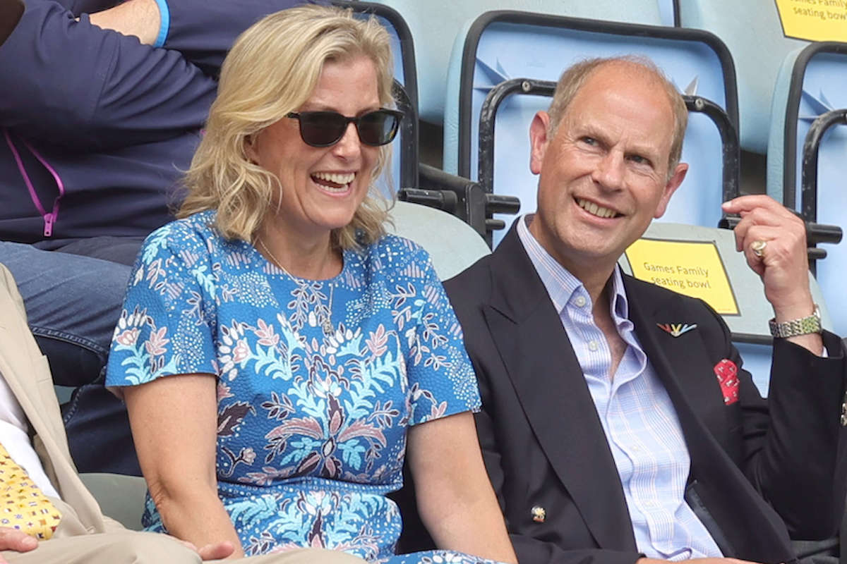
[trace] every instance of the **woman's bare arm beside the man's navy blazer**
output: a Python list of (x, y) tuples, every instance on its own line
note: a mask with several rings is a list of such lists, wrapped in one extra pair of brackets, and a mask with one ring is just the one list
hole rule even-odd
[(414, 425), (408, 440), (418, 512), (435, 544), (517, 563), (485, 473), (473, 414), (457, 413)]

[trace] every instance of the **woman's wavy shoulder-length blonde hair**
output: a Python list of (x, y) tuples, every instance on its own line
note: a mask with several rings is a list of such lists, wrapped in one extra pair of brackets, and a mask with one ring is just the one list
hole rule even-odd
[[(356, 19), (349, 8), (301, 6), (270, 14), (242, 33), (221, 67), (218, 97), (185, 173), (187, 195), (177, 216), (217, 210), (216, 227), (224, 237), (252, 242), (280, 181), (250, 162), (246, 140), (301, 107), (324, 63), (360, 56), (374, 62), (379, 103), (390, 107), (390, 40), (373, 16)], [(389, 159), (389, 146), (380, 147), (367, 196), (352, 222), (333, 230), (336, 248), (373, 243), (385, 233), (389, 202), (374, 180)]]

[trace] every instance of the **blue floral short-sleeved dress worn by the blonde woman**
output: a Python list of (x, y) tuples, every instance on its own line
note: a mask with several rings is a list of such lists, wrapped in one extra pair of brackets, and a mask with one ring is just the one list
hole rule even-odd
[[(152, 233), (130, 278), (108, 386), (218, 381), (219, 496), (248, 556), (304, 546), (395, 556), (406, 430), (479, 409), (462, 331), (429, 255), (387, 236), (339, 276), (291, 277), (202, 212)], [(186, 400), (189, 401), (189, 400)], [(190, 437), (186, 437), (190, 441)], [(143, 523), (164, 532), (147, 496)]]

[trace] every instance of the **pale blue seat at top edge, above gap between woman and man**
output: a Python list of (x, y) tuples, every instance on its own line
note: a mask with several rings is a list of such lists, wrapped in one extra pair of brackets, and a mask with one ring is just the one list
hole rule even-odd
[[(667, 2), (667, 0), (661, 0)], [(445, 77), (451, 60), (451, 47), (462, 26), (473, 22), (491, 8), (484, 0), (451, 2), (437, 0), (382, 0), (402, 14), (412, 30), (418, 46), (418, 85), (422, 119), (442, 123), (445, 112)], [(581, 18), (608, 19), (636, 24), (661, 25), (662, 16), (656, 0), (594, 0), (593, 2), (554, 2), (553, 0), (501, 0), (497, 8), (518, 8), (548, 14)], [(463, 35), (463, 34), (462, 34)], [(449, 171), (448, 171), (449, 172)]]

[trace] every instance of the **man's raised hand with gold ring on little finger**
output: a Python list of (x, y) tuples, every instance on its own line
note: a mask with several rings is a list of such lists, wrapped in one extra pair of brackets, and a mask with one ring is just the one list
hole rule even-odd
[(814, 303), (803, 220), (766, 195), (741, 196), (724, 202), (722, 209), (741, 216), (735, 248), (744, 252), (747, 264), (761, 277), (777, 320), (811, 315)]

